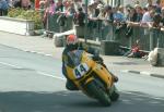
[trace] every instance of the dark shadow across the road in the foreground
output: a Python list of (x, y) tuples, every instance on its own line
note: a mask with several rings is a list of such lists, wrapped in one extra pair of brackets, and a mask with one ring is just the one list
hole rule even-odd
[(121, 92), (112, 107), (104, 108), (80, 92), (0, 92), (0, 112), (163, 112), (164, 98), (141, 92)]

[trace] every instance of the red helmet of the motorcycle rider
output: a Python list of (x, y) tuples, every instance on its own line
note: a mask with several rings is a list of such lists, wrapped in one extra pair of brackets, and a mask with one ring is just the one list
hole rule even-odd
[(69, 35), (66, 39), (66, 47), (70, 50), (75, 50), (78, 48), (78, 37), (73, 34)]

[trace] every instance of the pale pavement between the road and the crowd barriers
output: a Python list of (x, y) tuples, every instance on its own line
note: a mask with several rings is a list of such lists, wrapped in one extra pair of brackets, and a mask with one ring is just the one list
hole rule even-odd
[[(22, 36), (0, 32), (0, 45), (16, 48), (26, 52), (39, 53), (61, 60), (63, 48), (56, 48), (54, 39), (43, 36)], [(126, 57), (102, 55), (105, 64), (110, 71), (149, 75), (164, 78), (164, 67), (152, 66), (144, 59), (133, 59)]]

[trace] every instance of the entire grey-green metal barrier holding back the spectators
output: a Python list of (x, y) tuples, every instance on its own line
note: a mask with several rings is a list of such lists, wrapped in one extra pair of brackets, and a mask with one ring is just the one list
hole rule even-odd
[[(59, 23), (57, 23), (58, 16), (58, 14), (48, 15), (47, 30), (60, 33), (61, 28), (62, 32), (73, 28), (72, 16), (67, 17), (65, 26), (60, 26)], [(125, 26), (118, 29), (116, 24), (106, 20), (97, 20), (91, 23), (89, 22), (86, 32), (84, 27), (75, 26), (77, 35), (83, 38), (85, 34), (86, 38), (90, 40), (117, 41), (120, 46), (126, 48), (131, 48), (136, 41), (139, 40), (139, 45), (144, 51), (153, 50), (155, 47), (164, 48), (164, 32), (160, 29), (132, 26), (132, 34), (127, 36), (127, 27)]]

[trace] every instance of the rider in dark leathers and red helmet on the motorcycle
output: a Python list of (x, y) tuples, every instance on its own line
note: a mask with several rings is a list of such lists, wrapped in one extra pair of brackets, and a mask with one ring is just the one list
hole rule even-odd
[[(98, 57), (97, 51), (95, 49), (87, 47), (86, 45), (84, 45), (82, 42), (79, 42), (78, 37), (75, 35), (73, 35), (73, 34), (69, 35), (66, 39), (66, 48), (62, 52), (62, 74), (67, 78), (66, 88), (69, 90), (78, 90), (78, 88), (74, 85), (74, 83), (71, 79), (69, 79), (69, 77), (67, 76), (66, 63), (69, 61), (68, 52), (73, 51), (73, 50), (78, 50), (78, 49), (79, 50), (85, 50), (86, 52), (93, 54), (94, 55), (93, 60), (101, 62), (101, 64), (105, 66), (105, 64), (103, 63), (103, 59), (101, 57)], [(112, 75), (114, 77), (114, 80), (117, 82), (118, 77), (115, 76), (114, 74), (112, 74)]]

